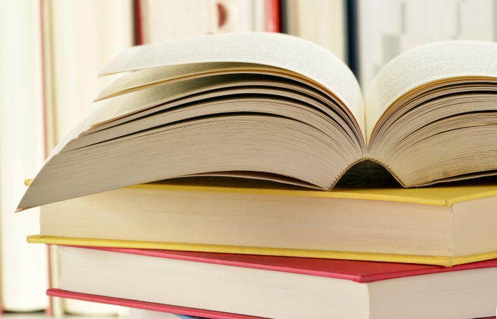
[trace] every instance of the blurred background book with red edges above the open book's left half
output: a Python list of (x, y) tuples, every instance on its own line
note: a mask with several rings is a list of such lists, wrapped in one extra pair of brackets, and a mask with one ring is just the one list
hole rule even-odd
[(137, 44), (221, 32), (279, 31), (275, 0), (135, 0)]

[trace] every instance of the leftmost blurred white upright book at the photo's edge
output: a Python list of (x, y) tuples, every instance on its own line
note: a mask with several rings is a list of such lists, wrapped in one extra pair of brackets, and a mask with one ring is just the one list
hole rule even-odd
[(0, 309), (48, 307), (46, 247), (26, 243), (38, 210), (14, 214), (24, 179), (43, 164), (39, 1), (2, 1), (0, 10)]

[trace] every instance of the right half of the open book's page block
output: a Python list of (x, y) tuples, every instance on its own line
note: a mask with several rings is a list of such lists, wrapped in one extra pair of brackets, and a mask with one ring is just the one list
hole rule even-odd
[(367, 94), (367, 158), (406, 187), (497, 174), (497, 43), (422, 45)]

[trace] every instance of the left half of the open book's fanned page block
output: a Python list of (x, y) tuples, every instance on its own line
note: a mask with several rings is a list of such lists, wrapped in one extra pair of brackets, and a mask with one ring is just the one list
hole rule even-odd
[(310, 41), (253, 32), (141, 45), (102, 72), (115, 73), (97, 97), (112, 99), (57, 147), (19, 209), (198, 174), (330, 189), (364, 152), (358, 82)]

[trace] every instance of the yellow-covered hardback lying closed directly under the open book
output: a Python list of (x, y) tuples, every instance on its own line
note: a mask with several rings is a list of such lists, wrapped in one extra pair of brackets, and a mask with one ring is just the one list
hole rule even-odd
[(43, 205), (30, 243), (379, 260), (497, 258), (496, 185), (417, 189), (153, 183)]

